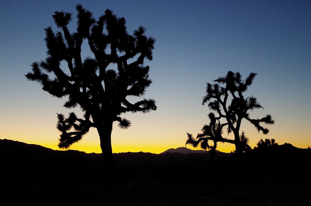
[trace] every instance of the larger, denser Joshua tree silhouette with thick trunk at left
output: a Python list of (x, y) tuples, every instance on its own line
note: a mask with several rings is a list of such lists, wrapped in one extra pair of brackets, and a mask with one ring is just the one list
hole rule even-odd
[[(155, 39), (147, 37), (142, 26), (129, 35), (125, 19), (118, 18), (108, 9), (97, 20), (80, 4), (76, 10), (77, 30), (73, 33), (67, 28), (72, 13), (61, 11), (52, 15), (63, 33), (55, 34), (52, 27), (45, 29), (48, 57), (45, 61), (32, 63), (32, 72), (25, 76), (39, 82), (52, 96), (68, 97), (64, 107), (79, 106), (84, 113), (83, 118), (73, 112), (67, 118), (58, 114), (58, 146), (70, 147), (94, 127), (99, 134), (104, 164), (109, 167), (113, 165), (113, 122), (117, 121), (120, 128), (127, 129), (131, 122), (121, 118), (121, 114), (147, 113), (157, 108), (153, 99), (141, 99), (136, 103), (126, 99), (128, 96), (142, 97), (151, 84), (149, 66), (144, 65), (144, 59), (153, 59)], [(94, 57), (82, 60), (83, 41), (87, 42)], [(132, 59), (131, 63), (128, 63), (129, 59)], [(63, 61), (69, 74), (61, 68)]]

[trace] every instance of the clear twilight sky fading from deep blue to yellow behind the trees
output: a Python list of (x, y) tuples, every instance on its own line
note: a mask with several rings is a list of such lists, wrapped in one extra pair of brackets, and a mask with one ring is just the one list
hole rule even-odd
[[(114, 125), (113, 152), (160, 153), (183, 147), (186, 132), (196, 136), (208, 124), (203, 106), (206, 83), (239, 71), (258, 73), (245, 96), (256, 96), (276, 123), (263, 135), (244, 121), (241, 127), (256, 146), (261, 138), (279, 144), (311, 146), (311, 1), (0, 1), (0, 138), (57, 149), (56, 113), (67, 114), (66, 99), (53, 98), (36, 82), (26, 80), (30, 64), (46, 58), (44, 28), (55, 26), (55, 11), (72, 12), (75, 5), (97, 18), (111, 9), (127, 21), (128, 32), (143, 25), (156, 38), (150, 66), (153, 83), (145, 97), (158, 109), (126, 114), (132, 127)], [(76, 28), (75, 19), (69, 28)], [(91, 55), (83, 47), (83, 57)], [(78, 111), (78, 110), (77, 110)], [(229, 138), (233, 138), (232, 135)], [(191, 147), (189, 147), (191, 148)], [(96, 130), (71, 149), (101, 152)], [(219, 143), (223, 152), (234, 150)]]

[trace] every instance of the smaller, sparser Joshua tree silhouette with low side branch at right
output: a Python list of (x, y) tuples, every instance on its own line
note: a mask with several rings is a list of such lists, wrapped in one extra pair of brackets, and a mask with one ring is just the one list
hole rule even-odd
[[(207, 94), (203, 97), (202, 105), (208, 103), (209, 109), (215, 111), (216, 114), (214, 112), (208, 114), (210, 124), (204, 125), (202, 133), (197, 134), (196, 138), (187, 133), (188, 139), (186, 144), (195, 147), (201, 144), (203, 149), (215, 150), (217, 142), (227, 142), (235, 145), (236, 153), (242, 153), (245, 149), (241, 143), (239, 131), (243, 119), (253, 124), (258, 132), (261, 131), (263, 134), (267, 134), (269, 129), (262, 127), (260, 123), (274, 124), (271, 115), (266, 115), (261, 119), (251, 119), (249, 111), (263, 109), (263, 107), (259, 104), (256, 97), (249, 96), (245, 98), (243, 96), (243, 93), (253, 83), (256, 75), (256, 73), (250, 73), (245, 80), (242, 80), (239, 72), (229, 71), (225, 77), (219, 77), (214, 80), (215, 84), (207, 83)], [(220, 85), (224, 85), (224, 87)], [(231, 102), (229, 103), (230, 99)], [(221, 123), (221, 121), (224, 123)], [(223, 137), (224, 127), (227, 128), (228, 134), (234, 134), (234, 139)], [(210, 146), (209, 141), (213, 141), (214, 145)]]

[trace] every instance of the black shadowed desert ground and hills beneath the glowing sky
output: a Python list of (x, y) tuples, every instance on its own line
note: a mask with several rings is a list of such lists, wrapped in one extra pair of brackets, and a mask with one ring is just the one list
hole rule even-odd
[(220, 154), (99, 154), (0, 140), (0, 205), (311, 205), (311, 149), (290, 144)]

